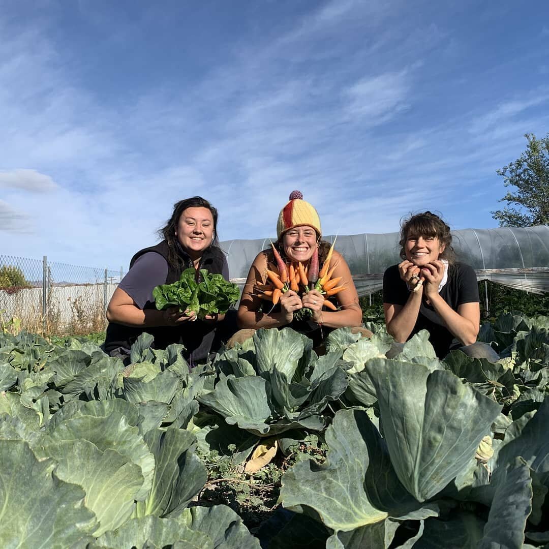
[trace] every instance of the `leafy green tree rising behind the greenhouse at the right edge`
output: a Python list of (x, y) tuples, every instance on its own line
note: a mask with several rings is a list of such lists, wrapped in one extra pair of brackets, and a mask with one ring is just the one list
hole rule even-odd
[(517, 188), (498, 200), (507, 203), (503, 210), (490, 212), (500, 227), (549, 225), (549, 133), (544, 139), (536, 139), (532, 133), (524, 137), (528, 139), (525, 152), (497, 170), (506, 187)]

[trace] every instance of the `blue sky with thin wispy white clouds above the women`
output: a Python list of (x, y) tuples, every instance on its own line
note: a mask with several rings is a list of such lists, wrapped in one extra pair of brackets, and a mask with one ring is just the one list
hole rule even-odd
[(199, 194), (221, 240), (410, 211), (497, 226), (549, 131), (549, 3), (0, 0), (0, 255), (126, 266)]

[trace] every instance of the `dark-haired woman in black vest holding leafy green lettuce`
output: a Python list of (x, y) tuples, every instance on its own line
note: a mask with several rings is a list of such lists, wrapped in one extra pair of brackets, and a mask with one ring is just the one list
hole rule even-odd
[(225, 254), (217, 246), (217, 210), (201, 197), (180, 200), (159, 236), (163, 238), (160, 244), (139, 250), (132, 257), (130, 270), (109, 302), (104, 349), (128, 362), (131, 345), (147, 332), (154, 336), (155, 349), (183, 344), (183, 355), (193, 365), (208, 356), (216, 324), (223, 315), (208, 315), (201, 321), (194, 313), (186, 316), (177, 307), (158, 311), (153, 289), (178, 281), (189, 267), (196, 270), (197, 280), (200, 269), (229, 279)]

